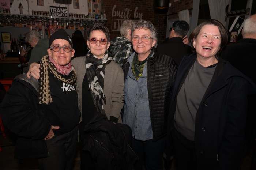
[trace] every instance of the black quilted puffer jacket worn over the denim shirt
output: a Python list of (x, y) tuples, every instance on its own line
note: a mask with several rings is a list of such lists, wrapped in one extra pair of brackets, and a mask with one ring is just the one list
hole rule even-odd
[[(130, 64), (125, 59), (122, 67), (124, 79), (129, 67)], [(156, 50), (154, 56), (147, 60), (147, 88), (153, 141), (157, 141), (166, 135), (167, 116), (176, 71), (177, 64), (174, 59), (170, 56), (158, 54)]]

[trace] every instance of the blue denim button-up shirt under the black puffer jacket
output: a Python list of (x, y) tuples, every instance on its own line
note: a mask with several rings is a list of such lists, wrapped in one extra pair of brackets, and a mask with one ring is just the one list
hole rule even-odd
[(132, 73), (133, 53), (124, 84), (124, 116), (123, 123), (132, 129), (132, 137), (138, 140), (153, 138), (147, 89), (147, 62), (144, 65), (142, 76), (137, 81)]

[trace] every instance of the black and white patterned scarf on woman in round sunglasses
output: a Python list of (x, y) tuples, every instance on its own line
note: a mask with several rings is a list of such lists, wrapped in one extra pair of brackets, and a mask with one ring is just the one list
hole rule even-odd
[[(93, 102), (98, 112), (105, 114), (103, 108), (103, 101), (106, 104), (106, 97), (104, 95), (104, 76), (106, 65), (112, 60), (112, 55), (108, 50), (102, 59), (98, 59), (93, 56), (91, 51), (87, 53), (85, 60), (86, 76), (89, 83), (89, 88), (91, 91), (91, 96), (93, 97)], [(103, 101), (102, 101), (103, 100)]]

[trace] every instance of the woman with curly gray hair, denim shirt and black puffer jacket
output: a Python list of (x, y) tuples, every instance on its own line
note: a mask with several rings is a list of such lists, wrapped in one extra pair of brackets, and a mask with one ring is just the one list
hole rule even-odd
[(124, 61), (123, 123), (132, 129), (132, 148), (139, 160), (136, 170), (163, 169), (167, 114), (170, 107), (176, 63), (159, 55), (157, 29), (150, 21), (138, 20), (131, 27), (134, 53)]

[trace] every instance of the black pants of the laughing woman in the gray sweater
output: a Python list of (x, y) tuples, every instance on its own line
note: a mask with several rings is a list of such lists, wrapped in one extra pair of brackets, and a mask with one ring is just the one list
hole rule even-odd
[(178, 170), (196, 170), (195, 142), (172, 130), (174, 159)]

